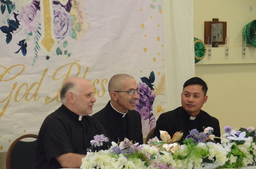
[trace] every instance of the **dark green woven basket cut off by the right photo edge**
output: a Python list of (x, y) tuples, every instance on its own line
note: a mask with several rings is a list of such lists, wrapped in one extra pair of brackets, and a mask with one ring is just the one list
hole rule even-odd
[(256, 20), (245, 25), (243, 28), (243, 38), (246, 37), (246, 43), (256, 47)]

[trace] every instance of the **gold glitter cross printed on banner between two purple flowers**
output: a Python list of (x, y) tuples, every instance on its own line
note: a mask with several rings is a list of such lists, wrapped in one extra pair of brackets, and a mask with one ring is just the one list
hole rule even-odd
[[(64, 2), (65, 0), (63, 0)], [(50, 3), (52, 0), (43, 0), (44, 9), (44, 39), (42, 40), (42, 45), (49, 52), (54, 45), (54, 40), (51, 37), (51, 10)]]

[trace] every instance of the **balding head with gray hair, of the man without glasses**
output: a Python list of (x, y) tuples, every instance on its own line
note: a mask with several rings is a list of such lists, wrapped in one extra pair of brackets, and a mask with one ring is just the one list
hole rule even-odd
[(92, 114), (92, 106), (96, 102), (92, 84), (86, 79), (70, 77), (61, 87), (61, 103), (77, 115)]

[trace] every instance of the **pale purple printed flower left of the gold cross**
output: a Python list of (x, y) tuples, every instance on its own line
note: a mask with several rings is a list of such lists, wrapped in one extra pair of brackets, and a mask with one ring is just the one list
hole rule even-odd
[(41, 22), (40, 10), (37, 10), (33, 4), (21, 7), (17, 19), (21, 22), (21, 25), (26, 28), (28, 33), (37, 31)]

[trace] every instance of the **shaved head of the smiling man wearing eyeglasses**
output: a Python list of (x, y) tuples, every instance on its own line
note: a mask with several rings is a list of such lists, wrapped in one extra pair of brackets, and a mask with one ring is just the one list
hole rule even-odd
[(135, 79), (127, 74), (114, 75), (108, 83), (108, 92), (113, 107), (126, 113), (128, 110), (135, 110), (138, 96), (138, 86)]

